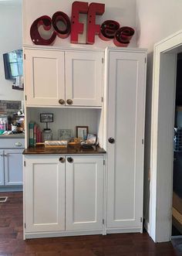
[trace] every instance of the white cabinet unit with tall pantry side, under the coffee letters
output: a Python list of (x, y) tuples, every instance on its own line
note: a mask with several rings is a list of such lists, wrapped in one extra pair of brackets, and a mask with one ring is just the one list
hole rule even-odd
[[(105, 58), (99, 49), (30, 47), (24, 53), (27, 125), (31, 108), (62, 108), (67, 114), (70, 108), (92, 108), (98, 111), (97, 135), (106, 149), (106, 157), (63, 154), (64, 163), (60, 154), (45, 162), (46, 155), (25, 155), (27, 237), (142, 232), (147, 51), (107, 48)], [(28, 134), (26, 138), (29, 145)], [(70, 157), (73, 164), (67, 161)], [(44, 184), (39, 176), (46, 172)], [(51, 208), (42, 200), (48, 180), (61, 184), (49, 186), (55, 197)]]

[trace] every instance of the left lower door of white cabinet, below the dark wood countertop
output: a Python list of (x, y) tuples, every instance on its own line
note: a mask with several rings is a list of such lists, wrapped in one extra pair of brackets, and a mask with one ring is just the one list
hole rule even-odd
[(65, 230), (65, 163), (25, 156), (25, 232)]

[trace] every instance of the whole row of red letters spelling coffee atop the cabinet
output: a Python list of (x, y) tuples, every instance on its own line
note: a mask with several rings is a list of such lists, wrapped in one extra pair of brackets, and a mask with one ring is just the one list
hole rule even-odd
[[(56, 36), (65, 39), (71, 33), (71, 43), (78, 43), (79, 34), (82, 34), (84, 30), (84, 24), (79, 22), (79, 13), (85, 13), (87, 14), (86, 43), (95, 43), (95, 36), (99, 35), (99, 38), (105, 41), (113, 39), (113, 43), (116, 46), (128, 46), (130, 39), (134, 35), (134, 29), (128, 26), (120, 28), (120, 24), (114, 20), (106, 20), (101, 26), (96, 24), (96, 15), (103, 15), (104, 11), (104, 4), (73, 2), (71, 22), (64, 12), (55, 12), (52, 15), (52, 19), (47, 15), (35, 19), (30, 28), (32, 42), (36, 45), (52, 45)], [(59, 26), (60, 22), (63, 25), (63, 29), (62, 26)], [(39, 26), (41, 25), (43, 29), (48, 31), (53, 27), (54, 32), (52, 32), (49, 39), (44, 39), (40, 35)]]

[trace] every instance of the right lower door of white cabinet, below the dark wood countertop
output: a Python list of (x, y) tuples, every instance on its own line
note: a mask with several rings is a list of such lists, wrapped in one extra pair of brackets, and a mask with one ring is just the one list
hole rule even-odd
[(102, 230), (103, 156), (66, 157), (66, 230)]

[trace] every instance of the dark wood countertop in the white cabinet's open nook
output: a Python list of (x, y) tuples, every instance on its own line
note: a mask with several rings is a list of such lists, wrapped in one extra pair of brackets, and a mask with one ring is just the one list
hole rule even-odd
[(103, 148), (95, 147), (93, 148), (82, 148), (80, 145), (68, 145), (67, 148), (45, 148), (45, 146), (36, 146), (32, 148), (26, 148), (23, 155), (102, 155), (106, 151)]

